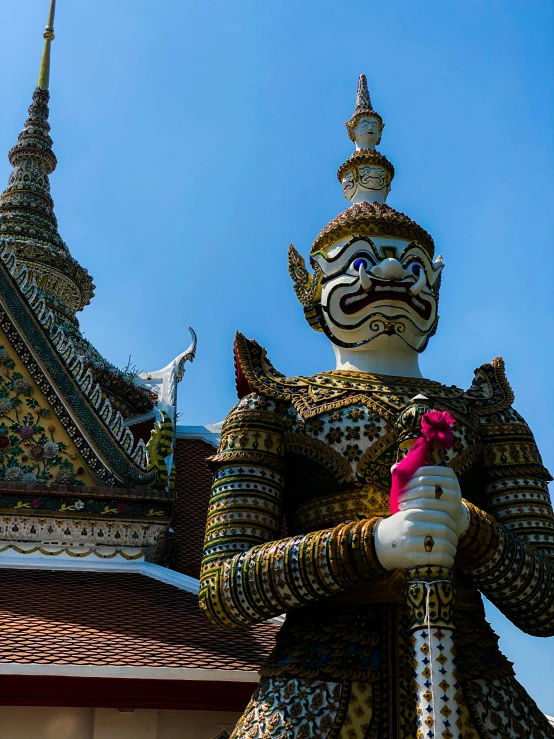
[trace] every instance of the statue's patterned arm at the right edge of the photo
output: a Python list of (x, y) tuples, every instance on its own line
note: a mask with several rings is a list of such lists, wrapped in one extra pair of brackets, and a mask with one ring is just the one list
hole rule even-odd
[(483, 429), (486, 511), (467, 504), (458, 546), (462, 566), (512, 623), (554, 635), (554, 515), (533, 435), (513, 409)]

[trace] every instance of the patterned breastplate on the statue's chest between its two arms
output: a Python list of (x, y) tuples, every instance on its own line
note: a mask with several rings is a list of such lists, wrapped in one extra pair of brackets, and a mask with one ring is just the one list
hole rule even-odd
[(357, 373), (345, 372), (317, 375), (311, 390), (319, 407), (308, 412), (298, 404), (288, 408), (285, 497), (290, 534), (389, 514), (390, 468), (398, 452), (395, 424), (419, 393), (429, 398), (431, 407), (449, 410), (456, 418), (455, 444), (443, 452), (443, 463), (463, 477), (481, 457), (477, 424), (457, 388), (428, 380), (394, 378), (393, 384), (388, 378), (384, 384), (381, 378), (356, 378)]

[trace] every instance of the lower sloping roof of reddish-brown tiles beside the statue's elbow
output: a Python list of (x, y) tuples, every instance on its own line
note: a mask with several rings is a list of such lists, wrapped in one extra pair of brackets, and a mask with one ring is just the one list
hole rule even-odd
[(220, 631), (197, 596), (134, 573), (0, 570), (0, 663), (256, 671), (278, 627)]

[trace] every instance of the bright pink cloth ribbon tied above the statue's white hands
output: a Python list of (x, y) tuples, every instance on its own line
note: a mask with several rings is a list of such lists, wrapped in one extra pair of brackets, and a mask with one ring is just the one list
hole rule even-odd
[(448, 411), (429, 411), (421, 419), (421, 436), (416, 439), (404, 459), (392, 470), (392, 485), (390, 491), (390, 509), (392, 513), (399, 510), (400, 496), (408, 482), (420, 467), (423, 467), (436, 441), (442, 449), (452, 449), (454, 446), (454, 432), (452, 426), (456, 423)]

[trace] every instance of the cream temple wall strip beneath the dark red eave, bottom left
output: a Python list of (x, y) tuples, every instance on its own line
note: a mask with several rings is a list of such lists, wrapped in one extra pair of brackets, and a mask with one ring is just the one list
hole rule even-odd
[(0, 739), (214, 739), (239, 713), (0, 706)]

